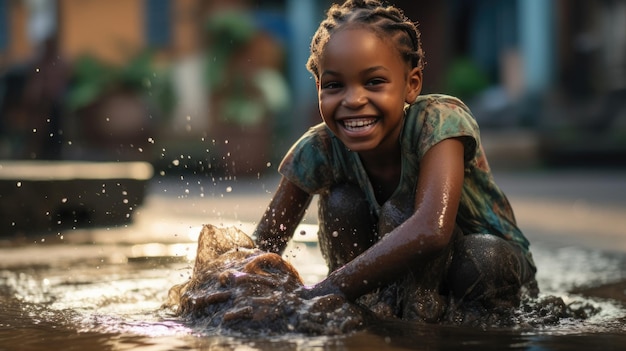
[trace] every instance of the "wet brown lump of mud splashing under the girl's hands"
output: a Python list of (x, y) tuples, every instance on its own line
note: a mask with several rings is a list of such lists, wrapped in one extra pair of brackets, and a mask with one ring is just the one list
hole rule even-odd
[(337, 335), (368, 324), (364, 308), (338, 295), (302, 299), (302, 287), (289, 262), (245, 233), (205, 225), (193, 274), (170, 289), (166, 305), (196, 328), (222, 332)]

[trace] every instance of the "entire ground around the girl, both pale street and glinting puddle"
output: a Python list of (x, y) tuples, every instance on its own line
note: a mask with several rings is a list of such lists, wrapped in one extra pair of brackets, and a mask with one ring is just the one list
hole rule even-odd
[[(191, 271), (204, 223), (250, 232), (277, 179), (159, 176), (117, 228), (0, 236), (0, 350), (621, 350), (626, 345), (626, 172), (496, 172), (530, 238), (544, 295), (591, 317), (543, 326), (387, 323), (345, 336), (209, 335), (161, 309)], [(325, 266), (306, 215), (286, 257), (313, 283)], [(299, 234), (300, 232), (304, 234)]]

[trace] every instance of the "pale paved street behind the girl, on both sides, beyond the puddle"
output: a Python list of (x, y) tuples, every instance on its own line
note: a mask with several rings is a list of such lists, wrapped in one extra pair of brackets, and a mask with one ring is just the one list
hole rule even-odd
[[(532, 241), (626, 252), (626, 171), (495, 170), (494, 175)], [(236, 224), (249, 231), (277, 181), (276, 176), (212, 180), (157, 175), (134, 224), (126, 230), (85, 232), (90, 241), (115, 243), (177, 242), (204, 223)], [(315, 206), (314, 201), (304, 223), (316, 223)]]

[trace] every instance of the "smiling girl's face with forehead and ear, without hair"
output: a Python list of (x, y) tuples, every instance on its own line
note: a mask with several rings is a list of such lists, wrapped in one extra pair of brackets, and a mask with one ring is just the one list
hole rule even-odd
[(333, 133), (352, 151), (395, 150), (404, 103), (421, 91), (421, 70), (363, 28), (332, 34), (319, 68), (320, 113)]

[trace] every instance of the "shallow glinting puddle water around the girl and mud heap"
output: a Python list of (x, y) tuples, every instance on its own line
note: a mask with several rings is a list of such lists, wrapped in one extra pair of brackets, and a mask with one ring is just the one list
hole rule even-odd
[[(64, 350), (612, 350), (626, 344), (623, 254), (535, 246), (544, 294), (558, 295), (567, 303), (583, 302), (598, 310), (586, 320), (564, 319), (531, 329), (494, 330), (394, 322), (346, 336), (262, 339), (207, 335), (161, 308), (168, 289), (189, 277), (193, 261), (188, 252), (194, 251), (190, 247), (193, 244), (128, 245), (111, 251), (116, 254), (92, 246), (11, 248), (13, 255), (22, 251), (33, 257), (48, 257), (37, 265), (3, 263), (0, 349), (49, 350), (54, 345)], [(83, 255), (77, 255), (76, 250)], [(122, 259), (120, 252), (127, 252), (128, 259)], [(302, 267), (309, 281), (325, 274), (317, 248), (310, 242), (293, 244), (287, 252), (287, 259)], [(596, 290), (598, 286), (618, 286), (618, 293), (607, 298), (600, 293), (602, 288), (600, 292), (585, 288), (589, 283)]]

